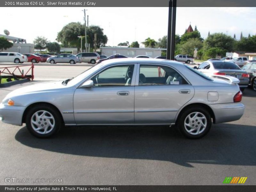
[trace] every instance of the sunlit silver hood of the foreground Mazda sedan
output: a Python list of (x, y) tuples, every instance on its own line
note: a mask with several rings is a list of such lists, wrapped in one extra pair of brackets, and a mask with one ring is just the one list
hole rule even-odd
[(19, 95), (38, 93), (38, 92), (52, 92), (59, 89), (65, 89), (67, 86), (62, 85), (62, 81), (52, 81), (45, 83), (38, 83), (22, 87), (10, 92), (5, 98), (12, 98)]

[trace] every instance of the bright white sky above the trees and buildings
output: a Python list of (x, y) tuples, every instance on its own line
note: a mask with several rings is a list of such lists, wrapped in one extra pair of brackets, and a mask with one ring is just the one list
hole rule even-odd
[[(58, 32), (70, 22), (84, 23), (82, 7), (0, 7), (0, 34), (4, 29), (33, 43), (36, 36), (54, 42)], [(87, 7), (89, 26), (104, 29), (109, 46), (150, 37), (158, 41), (167, 35), (168, 7)], [(222, 32), (230, 36), (256, 34), (256, 7), (177, 7), (176, 34), (182, 35), (191, 23), (203, 38)], [(4, 19), (3, 19), (4, 18)], [(87, 16), (86, 16), (87, 19)], [(141, 44), (142, 45), (142, 44)]]

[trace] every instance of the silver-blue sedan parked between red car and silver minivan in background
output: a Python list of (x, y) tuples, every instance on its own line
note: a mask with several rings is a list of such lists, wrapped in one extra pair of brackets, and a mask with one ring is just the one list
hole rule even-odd
[(46, 62), (54, 64), (54, 63), (70, 63), (70, 64), (76, 64), (79, 63), (78, 57), (72, 54), (62, 53), (59, 55), (56, 55), (54, 57), (50, 57), (46, 60)]

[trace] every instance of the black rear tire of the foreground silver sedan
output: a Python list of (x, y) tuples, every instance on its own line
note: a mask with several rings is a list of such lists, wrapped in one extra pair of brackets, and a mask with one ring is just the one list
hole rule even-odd
[[(196, 116), (197, 118), (195, 118), (194, 120), (191, 120), (191, 122), (190, 122), (191, 126), (193, 125), (193, 128), (195, 126), (194, 130), (195, 129), (196, 130), (193, 131), (193, 129), (190, 127), (191, 128), (190, 130), (192, 130), (192, 131), (191, 131), (191, 133), (189, 133), (188, 132), (189, 131), (188, 130), (189, 127), (188, 126), (185, 127), (185, 121), (186, 121), (187, 124), (189, 124), (188, 116), (193, 115), (193, 113), (196, 113), (196, 112), (198, 112), (198, 116)], [(200, 118), (203, 117), (202, 114), (204, 115), (205, 118), (202, 118), (202, 120), (201, 120)], [(198, 119), (200, 119), (201, 122)], [(203, 123), (202, 122), (204, 124), (206, 124), (205, 128), (203, 127)], [(197, 126), (200, 126), (198, 133), (196, 133), (197, 130), (198, 130)], [(193, 106), (191, 108), (188, 108), (188, 109), (184, 110), (182, 112), (180, 118), (178, 119), (178, 127), (179, 127), (180, 132), (185, 137), (187, 137), (189, 139), (199, 139), (199, 138), (205, 136), (209, 132), (211, 126), (212, 126), (211, 115), (210, 115), (210, 113), (206, 109), (202, 108), (201, 106)]]

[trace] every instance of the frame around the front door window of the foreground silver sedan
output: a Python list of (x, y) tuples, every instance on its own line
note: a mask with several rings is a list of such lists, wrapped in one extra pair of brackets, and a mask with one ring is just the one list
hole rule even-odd
[[(81, 87), (84, 82), (88, 81), (88, 80), (91, 80), (92, 77), (94, 77), (95, 75), (98, 75), (99, 73), (103, 72), (104, 70), (108, 69), (108, 68), (112, 68), (112, 67), (116, 67), (116, 66), (123, 66), (123, 65), (134, 65), (134, 68), (133, 68), (133, 74), (132, 74), (132, 82), (131, 82), (131, 85), (129, 86), (102, 86), (102, 87), (91, 87), (91, 88), (84, 88), (84, 87)], [(99, 88), (113, 88), (113, 87), (134, 87), (135, 86), (135, 80), (136, 80), (136, 63), (116, 63), (116, 64), (113, 64), (113, 65), (108, 65), (104, 68), (101, 68), (99, 71), (93, 73), (91, 76), (89, 76), (88, 78), (86, 78), (81, 84), (79, 84), (79, 86), (77, 87), (77, 89), (99, 89)]]

